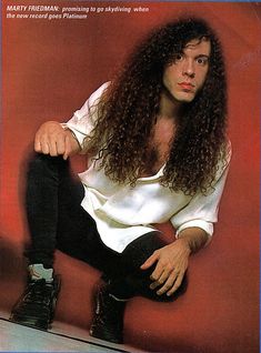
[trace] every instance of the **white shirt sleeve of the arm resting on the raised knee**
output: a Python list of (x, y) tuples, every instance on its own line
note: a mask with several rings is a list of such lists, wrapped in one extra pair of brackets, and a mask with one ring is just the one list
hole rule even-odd
[(109, 82), (103, 83), (90, 98), (84, 102), (81, 109), (77, 110), (73, 117), (61, 125), (66, 129), (70, 129), (77, 138), (81, 148), (83, 148), (83, 141), (87, 135), (90, 135), (96, 122), (97, 104), (102, 93), (109, 85)]

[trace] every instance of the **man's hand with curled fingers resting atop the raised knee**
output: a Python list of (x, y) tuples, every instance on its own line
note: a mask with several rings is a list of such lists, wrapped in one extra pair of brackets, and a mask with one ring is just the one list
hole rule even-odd
[(80, 151), (80, 145), (70, 130), (64, 130), (57, 121), (48, 121), (36, 133), (34, 150), (52, 157), (62, 155), (67, 160)]

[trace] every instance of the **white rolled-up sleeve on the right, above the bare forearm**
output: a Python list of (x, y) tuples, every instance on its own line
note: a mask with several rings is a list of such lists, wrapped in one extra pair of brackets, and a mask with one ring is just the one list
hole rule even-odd
[(213, 223), (218, 221), (219, 204), (228, 175), (230, 157), (231, 150), (225, 167), (223, 167), (221, 172), (219, 171), (213, 190), (207, 195), (202, 193), (195, 194), (187, 206), (170, 219), (177, 230), (177, 238), (179, 238), (179, 234), (184, 229), (195, 226), (204, 230), (209, 239), (211, 239), (213, 234)]

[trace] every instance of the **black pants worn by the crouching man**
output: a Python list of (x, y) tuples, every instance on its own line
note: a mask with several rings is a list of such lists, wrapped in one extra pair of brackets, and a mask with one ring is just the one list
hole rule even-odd
[(157, 295), (149, 289), (153, 269), (140, 265), (164, 245), (159, 232), (152, 231), (130, 243), (122, 253), (107, 248), (94, 220), (80, 205), (84, 189), (73, 175), (69, 162), (61, 157), (37, 154), (29, 163), (26, 206), (31, 244), (27, 251), (30, 263), (53, 265), (56, 249), (82, 260), (103, 273), (111, 292), (122, 299), (143, 295), (158, 301), (177, 297)]

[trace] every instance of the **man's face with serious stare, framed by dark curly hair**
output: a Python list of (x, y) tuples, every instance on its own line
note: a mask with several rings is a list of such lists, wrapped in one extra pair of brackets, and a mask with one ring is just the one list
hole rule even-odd
[(210, 41), (193, 39), (177, 54), (163, 73), (168, 95), (178, 102), (191, 102), (203, 87), (209, 70)]

